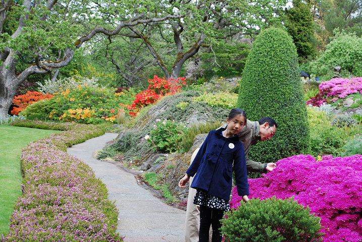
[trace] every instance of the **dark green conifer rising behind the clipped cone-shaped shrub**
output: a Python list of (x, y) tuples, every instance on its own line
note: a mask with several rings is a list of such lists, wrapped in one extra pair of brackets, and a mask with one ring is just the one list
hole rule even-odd
[(302, 3), (301, 0), (293, 0), (293, 7), (286, 9), (286, 20), (284, 25), (287, 32), (292, 36), (298, 57), (306, 59), (316, 54), (313, 45), (314, 29), (311, 4)]

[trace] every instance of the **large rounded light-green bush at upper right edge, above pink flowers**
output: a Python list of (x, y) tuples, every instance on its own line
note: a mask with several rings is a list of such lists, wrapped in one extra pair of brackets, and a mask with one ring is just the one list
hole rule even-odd
[[(340, 66), (341, 74), (347, 77), (349, 73), (356, 77), (362, 76), (362, 38), (355, 33), (334, 31), (334, 37), (326, 46), (326, 50), (315, 61), (311, 62), (311, 70), (318, 76), (332, 78), (335, 66)], [(347, 73), (343, 73), (347, 72)]]

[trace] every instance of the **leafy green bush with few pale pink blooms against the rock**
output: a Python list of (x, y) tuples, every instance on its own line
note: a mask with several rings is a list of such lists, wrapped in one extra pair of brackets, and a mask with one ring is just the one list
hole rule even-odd
[(185, 133), (187, 127), (182, 123), (177, 123), (175, 120), (156, 120), (156, 125), (153, 126), (154, 129), (151, 131), (150, 136), (146, 136), (148, 144), (159, 150), (164, 150), (167, 152), (175, 152), (181, 141), (181, 134)]

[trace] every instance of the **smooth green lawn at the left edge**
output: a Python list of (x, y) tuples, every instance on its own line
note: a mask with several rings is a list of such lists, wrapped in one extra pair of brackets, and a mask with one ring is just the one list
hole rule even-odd
[(16, 199), (22, 194), (21, 149), (55, 132), (61, 131), (0, 125), (0, 234), (9, 233), (9, 217)]

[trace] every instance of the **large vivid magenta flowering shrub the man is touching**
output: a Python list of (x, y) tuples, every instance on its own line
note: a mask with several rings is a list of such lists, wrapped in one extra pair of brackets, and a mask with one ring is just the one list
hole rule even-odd
[[(249, 179), (249, 198), (287, 199), (294, 196), (321, 218), (325, 242), (362, 241), (362, 155), (291, 156), (262, 178)], [(240, 205), (234, 188), (230, 207)]]

